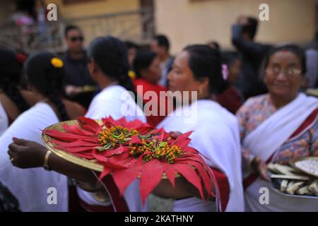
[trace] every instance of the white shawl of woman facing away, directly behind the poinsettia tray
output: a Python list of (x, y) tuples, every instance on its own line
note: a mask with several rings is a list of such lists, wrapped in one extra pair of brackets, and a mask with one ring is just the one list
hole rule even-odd
[[(146, 122), (142, 110), (136, 105), (134, 99), (127, 90), (120, 85), (110, 85), (96, 95), (88, 107), (86, 117), (102, 119), (105, 117), (120, 119), (125, 117), (127, 121), (139, 119)], [(111, 202), (101, 203), (93, 198), (92, 194), (77, 189), (78, 196), (89, 205), (110, 206)], [(139, 181), (133, 182), (124, 192), (127, 206), (131, 212), (141, 211), (141, 198), (139, 194)]]

